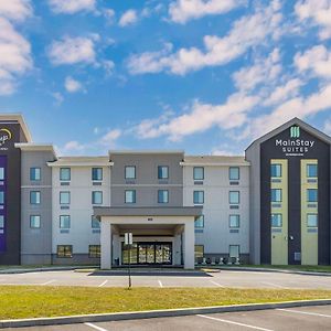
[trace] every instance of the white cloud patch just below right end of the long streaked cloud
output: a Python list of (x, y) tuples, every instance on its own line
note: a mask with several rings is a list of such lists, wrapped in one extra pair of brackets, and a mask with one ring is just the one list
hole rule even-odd
[(253, 90), (259, 84), (270, 84), (281, 72), (279, 50), (275, 49), (268, 57), (256, 57), (253, 66), (243, 67), (233, 74), (235, 86), (241, 90)]

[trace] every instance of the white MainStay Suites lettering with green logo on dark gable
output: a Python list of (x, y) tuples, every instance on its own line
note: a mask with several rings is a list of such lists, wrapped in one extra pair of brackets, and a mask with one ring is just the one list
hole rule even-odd
[(300, 127), (290, 127), (289, 139), (275, 139), (275, 146), (281, 148), (282, 152), (287, 157), (303, 157), (311, 148), (313, 148), (316, 141), (300, 139)]

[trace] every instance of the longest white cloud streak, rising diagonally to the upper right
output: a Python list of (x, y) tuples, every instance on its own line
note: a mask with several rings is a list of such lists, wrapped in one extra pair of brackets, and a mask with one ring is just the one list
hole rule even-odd
[(227, 35), (205, 35), (204, 51), (191, 47), (171, 53), (166, 46), (159, 52), (131, 55), (128, 70), (131, 74), (168, 71), (184, 75), (203, 67), (224, 65), (243, 55), (249, 47), (264, 43), (267, 38), (279, 38), (281, 19), (279, 1), (274, 0), (269, 7), (258, 8), (254, 14), (235, 21)]

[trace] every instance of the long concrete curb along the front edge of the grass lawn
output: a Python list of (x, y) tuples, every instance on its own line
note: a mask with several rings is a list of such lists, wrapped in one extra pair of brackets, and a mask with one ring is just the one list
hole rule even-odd
[(254, 311), (254, 310), (324, 306), (324, 305), (331, 305), (331, 299), (286, 301), (286, 302), (278, 302), (278, 303), (250, 303), (250, 305), (235, 305), (235, 306), (116, 312), (116, 313), (84, 314), (84, 316), (38, 318), (38, 319), (22, 319), (22, 320), (2, 320), (0, 321), (0, 329), (36, 327), (36, 325), (74, 324), (74, 323), (86, 323), (86, 322), (110, 322), (110, 321), (124, 321), (124, 320), (136, 320), (136, 319), (181, 317), (181, 316), (192, 316), (192, 314), (200, 314), (200, 313), (205, 314), (205, 313), (220, 313), (220, 312)]

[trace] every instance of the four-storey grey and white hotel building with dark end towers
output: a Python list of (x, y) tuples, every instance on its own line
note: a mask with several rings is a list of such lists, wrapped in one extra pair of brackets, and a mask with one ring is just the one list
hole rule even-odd
[(0, 115), (0, 265), (330, 265), (330, 146), (293, 118), (245, 157), (58, 157)]

